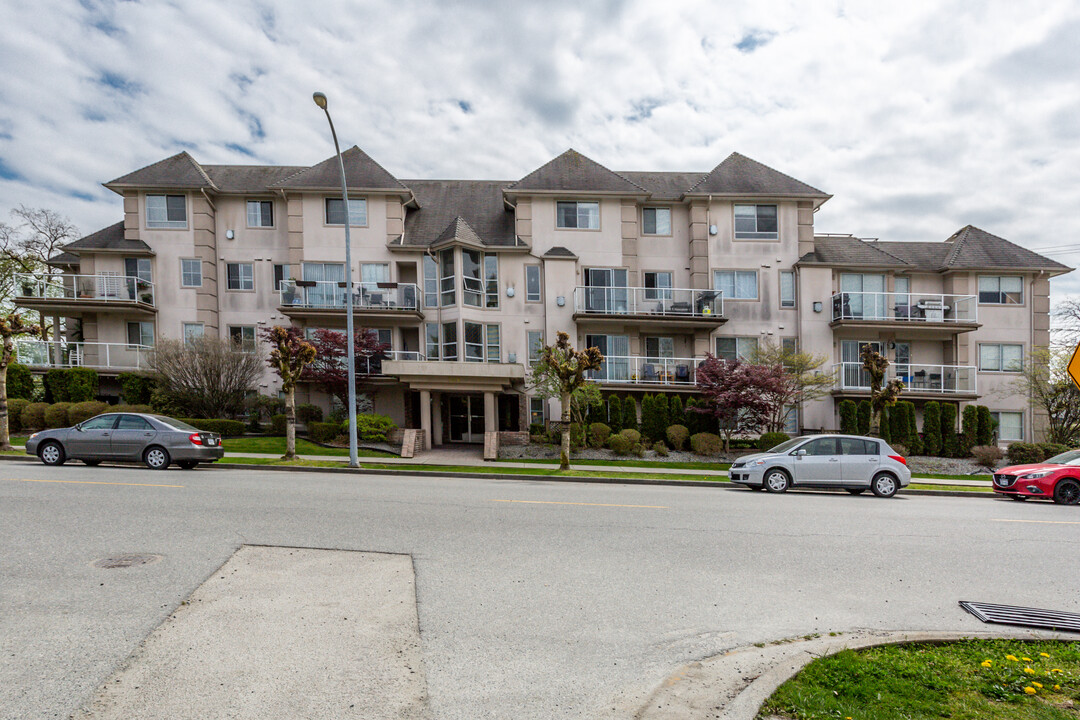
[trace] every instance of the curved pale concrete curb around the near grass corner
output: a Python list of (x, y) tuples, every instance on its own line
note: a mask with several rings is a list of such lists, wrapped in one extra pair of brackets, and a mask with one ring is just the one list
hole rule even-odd
[[(811, 662), (834, 655), (841, 650), (862, 650), (878, 646), (946, 643), (966, 638), (1010, 640), (1063, 640), (1075, 642), (1076, 636), (1041, 630), (1007, 630), (977, 633), (944, 631), (872, 631), (840, 633), (835, 637), (797, 638), (764, 647), (735, 648), (720, 655), (691, 663), (669, 677), (634, 716), (636, 720), (754, 720), (761, 706), (780, 685), (784, 684)], [(753, 670), (755, 661), (758, 664)], [(764, 667), (762, 667), (764, 666)], [(746, 673), (762, 670), (742, 689), (729, 690), (728, 699), (718, 715), (718, 702), (724, 702), (725, 683), (746, 679)], [(729, 684), (730, 689), (731, 685)]]

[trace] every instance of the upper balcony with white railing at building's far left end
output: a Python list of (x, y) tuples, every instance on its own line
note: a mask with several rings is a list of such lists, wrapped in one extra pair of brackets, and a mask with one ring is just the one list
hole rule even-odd
[(19, 273), (15, 276), (15, 304), (45, 312), (157, 312), (153, 283), (132, 275)]

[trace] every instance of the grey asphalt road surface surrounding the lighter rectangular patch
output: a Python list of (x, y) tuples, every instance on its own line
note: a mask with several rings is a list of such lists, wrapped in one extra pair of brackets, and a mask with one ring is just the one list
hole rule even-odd
[[(63, 718), (242, 544), (406, 553), (432, 716), (629, 717), (681, 664), (1080, 611), (1080, 510), (521, 480), (0, 463), (0, 718)], [(124, 553), (158, 562), (104, 570)], [(227, 642), (227, 638), (222, 638)]]

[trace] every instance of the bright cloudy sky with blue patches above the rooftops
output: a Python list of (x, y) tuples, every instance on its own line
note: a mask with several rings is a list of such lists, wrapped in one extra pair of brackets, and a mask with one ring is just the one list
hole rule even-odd
[(333, 153), (322, 90), (342, 142), (397, 177), (738, 150), (833, 193), (819, 231), (972, 223), (1077, 264), (1078, 38), (1075, 0), (0, 0), (0, 214), (96, 230), (121, 217), (100, 182), (181, 149), (312, 164)]

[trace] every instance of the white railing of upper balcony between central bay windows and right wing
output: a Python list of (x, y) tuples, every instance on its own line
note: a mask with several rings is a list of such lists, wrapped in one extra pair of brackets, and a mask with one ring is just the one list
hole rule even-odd
[(679, 317), (723, 317), (720, 290), (681, 287), (577, 287), (573, 311), (600, 315), (664, 315)]

